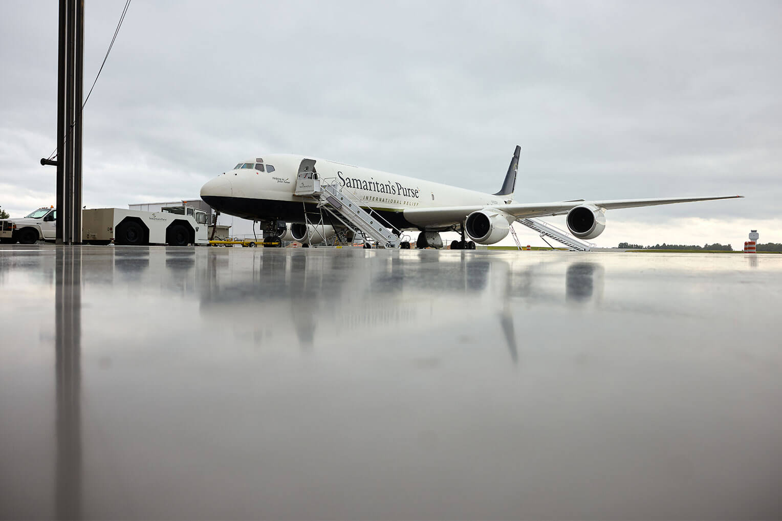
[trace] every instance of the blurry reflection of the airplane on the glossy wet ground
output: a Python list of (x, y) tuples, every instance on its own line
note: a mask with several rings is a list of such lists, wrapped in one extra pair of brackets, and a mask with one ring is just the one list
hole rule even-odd
[[(439, 343), (429, 332), (449, 325), (465, 332), (501, 330), (500, 338), (516, 361), (517, 304), (583, 305), (602, 292), (600, 265), (569, 262), (564, 256), (553, 262), (449, 256), (421, 264), (368, 255), (356, 264), (347, 258), (352, 255), (256, 253), (251, 270), (243, 266), (235, 271), (227, 264), (228, 256), (219, 269), (221, 256), (210, 256), (213, 280), (200, 289), (201, 313), (253, 343), (280, 343), (295, 334), (307, 350), (315, 343), (334, 344), (354, 336), (367, 338), (369, 345), (406, 337)], [(543, 275), (538, 279), (543, 283), (536, 285), (533, 274)], [(553, 281), (558, 287), (549, 286)], [(465, 318), (460, 310), (466, 306), (468, 321), (460, 322)]]

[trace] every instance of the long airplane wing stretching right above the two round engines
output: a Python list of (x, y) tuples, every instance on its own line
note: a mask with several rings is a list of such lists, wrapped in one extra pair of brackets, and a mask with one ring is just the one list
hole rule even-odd
[(411, 208), (404, 210), (404, 218), (418, 226), (450, 226), (461, 223), (469, 214), (484, 208), (494, 208), (523, 219), (526, 217), (545, 217), (567, 214), (572, 208), (591, 205), (617, 210), (619, 208), (652, 207), (658, 204), (692, 203), (694, 201), (713, 201), (716, 199), (736, 199), (743, 196), (721, 197), (672, 197), (669, 199), (609, 199), (602, 201), (559, 201), (555, 203), (510, 203), (469, 207)]

